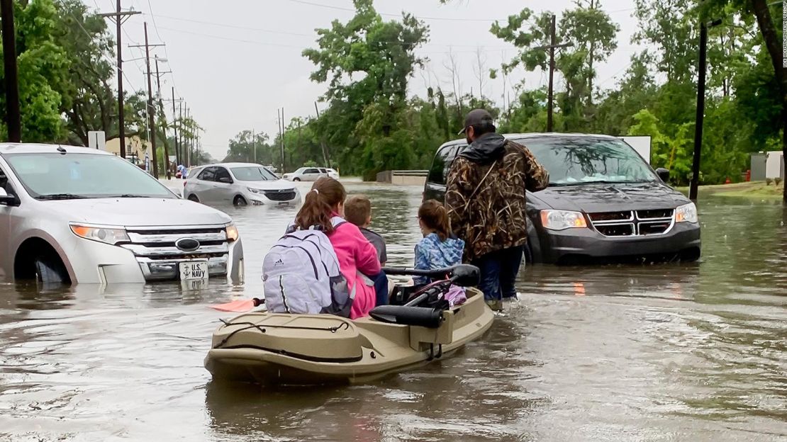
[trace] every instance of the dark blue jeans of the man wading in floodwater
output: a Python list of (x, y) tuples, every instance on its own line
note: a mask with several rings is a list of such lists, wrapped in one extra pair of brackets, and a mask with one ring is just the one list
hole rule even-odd
[(478, 289), (485, 300), (516, 297), (516, 274), (522, 264), (524, 246), (501, 249), (479, 256), (472, 264), (481, 271)]

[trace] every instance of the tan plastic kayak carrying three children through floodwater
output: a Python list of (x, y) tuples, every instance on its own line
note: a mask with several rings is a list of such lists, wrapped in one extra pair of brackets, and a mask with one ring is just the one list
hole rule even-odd
[[(431, 309), (414, 311), (415, 316), (408, 309), (412, 310), (386, 306), (375, 309), (378, 319), (354, 321), (334, 315), (240, 315), (213, 333), (205, 368), (214, 379), (227, 381), (281, 385), (364, 382), (444, 358), (481, 337), (494, 319), (483, 294), (471, 288), (464, 304), (434, 311), (431, 316), (427, 315)], [(386, 322), (400, 311), (409, 319)]]

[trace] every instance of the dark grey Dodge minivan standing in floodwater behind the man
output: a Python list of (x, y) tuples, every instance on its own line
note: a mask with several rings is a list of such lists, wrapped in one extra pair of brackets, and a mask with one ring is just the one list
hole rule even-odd
[[(549, 171), (549, 187), (527, 192), (531, 263), (695, 261), (700, 258), (696, 206), (667, 186), (622, 139), (590, 134), (507, 134)], [(444, 201), (445, 179), (464, 140), (440, 146), (425, 200)]]

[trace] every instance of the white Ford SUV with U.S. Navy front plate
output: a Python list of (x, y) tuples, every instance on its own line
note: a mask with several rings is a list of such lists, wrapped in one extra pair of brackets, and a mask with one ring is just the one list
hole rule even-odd
[(176, 197), (112, 153), (0, 144), (0, 279), (240, 282), (229, 215)]

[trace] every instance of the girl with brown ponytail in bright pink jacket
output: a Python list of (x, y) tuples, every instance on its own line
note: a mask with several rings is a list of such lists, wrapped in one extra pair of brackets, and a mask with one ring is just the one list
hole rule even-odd
[(375, 308), (376, 287), (385, 287), (387, 297), (388, 279), (382, 273), (377, 259), (377, 249), (360, 233), (353, 223), (341, 222), (333, 226), (334, 216), (344, 216), (347, 192), (341, 182), (320, 177), (306, 193), (301, 210), (295, 216), (294, 227), (309, 229), (317, 227), (327, 235), (338, 258), (339, 270), (347, 279), (349, 293), (355, 291), (350, 319), (368, 315)]

